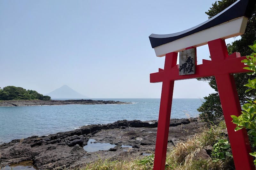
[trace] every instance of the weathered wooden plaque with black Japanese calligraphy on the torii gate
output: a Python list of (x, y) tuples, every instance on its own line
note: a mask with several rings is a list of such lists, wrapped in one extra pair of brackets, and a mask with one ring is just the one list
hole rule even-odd
[(179, 75), (195, 74), (195, 48), (180, 51)]

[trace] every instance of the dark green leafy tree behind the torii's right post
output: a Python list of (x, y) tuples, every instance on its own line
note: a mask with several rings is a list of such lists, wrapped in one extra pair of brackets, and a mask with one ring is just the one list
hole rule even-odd
[[(236, 0), (221, 0), (216, 1), (212, 4), (212, 7), (205, 12), (209, 17), (212, 18), (213, 16), (217, 15), (224, 9), (226, 9), (228, 6), (236, 2)], [(249, 55), (252, 53), (252, 49), (248, 48), (249, 45), (253, 44), (254, 40), (256, 39), (256, 15), (255, 15), (256, 8), (254, 7), (254, 11), (252, 14), (252, 17), (248, 19), (248, 23), (245, 29), (245, 33), (241, 35), (240, 40), (236, 40), (231, 44), (227, 45), (228, 53), (229, 55), (234, 52), (241, 53), (241, 56)], [(247, 75), (245, 73), (241, 74), (234, 74), (235, 82), (236, 82), (236, 89), (238, 92), (239, 100), (241, 104), (244, 104), (246, 102), (247, 98), (255, 98), (256, 95), (253, 92), (244, 93), (245, 90), (248, 89), (248, 87), (245, 87), (244, 84), (247, 83), (247, 80), (256, 78), (256, 75)], [(207, 81), (209, 85), (218, 92), (217, 84), (215, 77), (207, 77), (207, 78), (198, 78), (198, 80)], [(198, 108), (197, 110), (199, 112), (202, 112), (200, 114), (200, 117), (204, 117), (206, 115), (209, 115), (209, 117), (219, 116), (222, 113), (221, 104), (220, 104), (220, 97), (218, 93), (212, 93), (207, 97), (204, 97), (206, 102), (203, 103), (203, 105)], [(214, 106), (214, 107), (213, 107)], [(212, 112), (212, 114), (209, 114)]]

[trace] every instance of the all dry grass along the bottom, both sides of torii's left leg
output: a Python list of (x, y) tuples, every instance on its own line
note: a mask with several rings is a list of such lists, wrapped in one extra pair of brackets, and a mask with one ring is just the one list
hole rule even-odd
[[(218, 126), (210, 125), (204, 127), (200, 134), (196, 134), (193, 138), (188, 139), (185, 143), (178, 143), (176, 147), (168, 148), (166, 156), (166, 170), (226, 170), (234, 169), (232, 158), (226, 158), (214, 161), (209, 159), (194, 159), (195, 155), (205, 146), (215, 144), (219, 139), (227, 139), (223, 130), (226, 129), (225, 122), (221, 122)], [(110, 159), (91, 162), (88, 165), (76, 168), (80, 170), (150, 170), (153, 169), (154, 155), (144, 158), (127, 160)], [(66, 168), (55, 168), (66, 169)]]

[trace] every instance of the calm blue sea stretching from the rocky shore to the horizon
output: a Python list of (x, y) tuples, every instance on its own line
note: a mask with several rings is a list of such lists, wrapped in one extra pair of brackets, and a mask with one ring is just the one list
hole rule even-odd
[[(90, 124), (118, 120), (158, 120), (160, 99), (92, 99), (132, 104), (0, 107), (0, 144), (13, 139), (43, 136)], [(201, 99), (173, 99), (171, 118), (198, 116)]]

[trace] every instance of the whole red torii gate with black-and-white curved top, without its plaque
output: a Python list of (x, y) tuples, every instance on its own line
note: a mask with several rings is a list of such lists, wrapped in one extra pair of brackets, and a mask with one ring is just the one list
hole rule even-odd
[[(150, 74), (150, 83), (163, 82), (154, 170), (164, 170), (165, 167), (174, 81), (210, 76), (216, 78), (236, 170), (255, 170), (252, 156), (249, 154), (251, 147), (246, 129), (235, 132), (236, 125), (231, 122), (232, 118), (230, 117), (230, 115), (241, 115), (242, 111), (232, 74), (248, 72), (248, 70), (243, 69), (244, 63), (241, 63), (245, 56), (241, 57), (240, 53), (228, 55), (224, 40), (244, 33), (247, 18), (252, 14), (255, 3), (255, 0), (238, 0), (217, 16), (209, 19), (210, 21), (208, 20), (199, 26), (180, 33), (151, 34), (149, 36), (156, 55), (165, 55), (164, 70), (159, 69), (159, 72)], [(239, 15), (234, 15), (235, 18), (228, 18), (228, 20), (223, 19), (226, 18), (225, 16), (233, 16), (232, 13), (234, 12), (239, 13)], [(218, 17), (222, 17), (222, 19), (218, 19)], [(214, 20), (217, 24), (212, 22)], [(219, 20), (222, 20), (222, 23)], [(209, 22), (211, 22), (212, 27), (205, 27), (204, 24), (208, 23), (209, 25)], [(199, 32), (196, 32), (195, 29)], [(232, 31), (227, 31), (227, 29)], [(211, 35), (207, 35), (209, 33)], [(195, 74), (179, 75), (179, 65), (176, 65), (178, 52), (204, 44), (209, 46), (212, 61), (203, 60), (203, 64), (196, 66)]]

